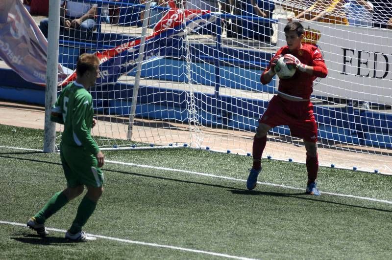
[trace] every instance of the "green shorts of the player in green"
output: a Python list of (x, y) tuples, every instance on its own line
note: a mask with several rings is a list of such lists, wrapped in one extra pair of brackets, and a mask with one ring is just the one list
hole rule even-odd
[(67, 179), (67, 187), (80, 185), (101, 187), (104, 181), (103, 173), (98, 168), (97, 158), (84, 151), (83, 148), (61, 145), (61, 163)]

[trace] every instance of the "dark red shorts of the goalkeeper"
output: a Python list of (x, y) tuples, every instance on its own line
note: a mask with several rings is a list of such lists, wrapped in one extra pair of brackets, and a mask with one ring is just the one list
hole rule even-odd
[(317, 123), (310, 101), (290, 101), (274, 96), (259, 120), (259, 123), (276, 126), (289, 126), (293, 136), (307, 142), (317, 142)]

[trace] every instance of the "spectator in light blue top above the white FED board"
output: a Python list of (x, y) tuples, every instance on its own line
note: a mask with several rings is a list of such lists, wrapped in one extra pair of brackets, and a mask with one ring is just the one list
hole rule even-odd
[(349, 25), (372, 26), (373, 4), (364, 0), (350, 0), (344, 4)]

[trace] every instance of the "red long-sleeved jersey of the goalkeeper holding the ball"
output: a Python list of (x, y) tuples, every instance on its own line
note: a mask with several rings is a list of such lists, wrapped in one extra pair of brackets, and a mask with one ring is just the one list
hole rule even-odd
[[(313, 66), (314, 71), (313, 75), (309, 75), (308, 73), (297, 70), (294, 76), (290, 79), (280, 79), (278, 91), (291, 96), (309, 99), (310, 95), (313, 92), (313, 81), (318, 77), (325, 78), (328, 74), (327, 67), (324, 63), (319, 48), (311, 44), (302, 44), (302, 48), (290, 51), (289, 46), (286, 45), (281, 47), (275, 53), (272, 59), (278, 55), (285, 54), (292, 54), (297, 57), (301, 61), (301, 63)], [(266, 84), (266, 82), (264, 82), (263, 75), (269, 69), (270, 65), (268, 65), (268, 67), (261, 76), (262, 84)]]

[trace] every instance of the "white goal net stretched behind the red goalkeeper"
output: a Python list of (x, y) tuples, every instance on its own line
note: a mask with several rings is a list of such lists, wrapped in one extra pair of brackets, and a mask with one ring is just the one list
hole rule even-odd
[[(312, 95), (320, 165), (392, 173), (392, 30), (381, 7), (343, 2), (69, 0), (59, 63), (70, 76), (62, 86), (74, 80), (80, 54), (97, 53), (90, 90), (103, 149), (185, 144), (249, 155), (279, 85), (277, 77), (262, 85), (260, 75), (286, 44), (287, 18), (300, 19), (304, 41), (319, 47), (329, 70)], [(74, 25), (72, 15), (91, 8), (94, 26)], [(280, 126), (270, 130), (263, 157), (304, 162), (306, 152)]]

